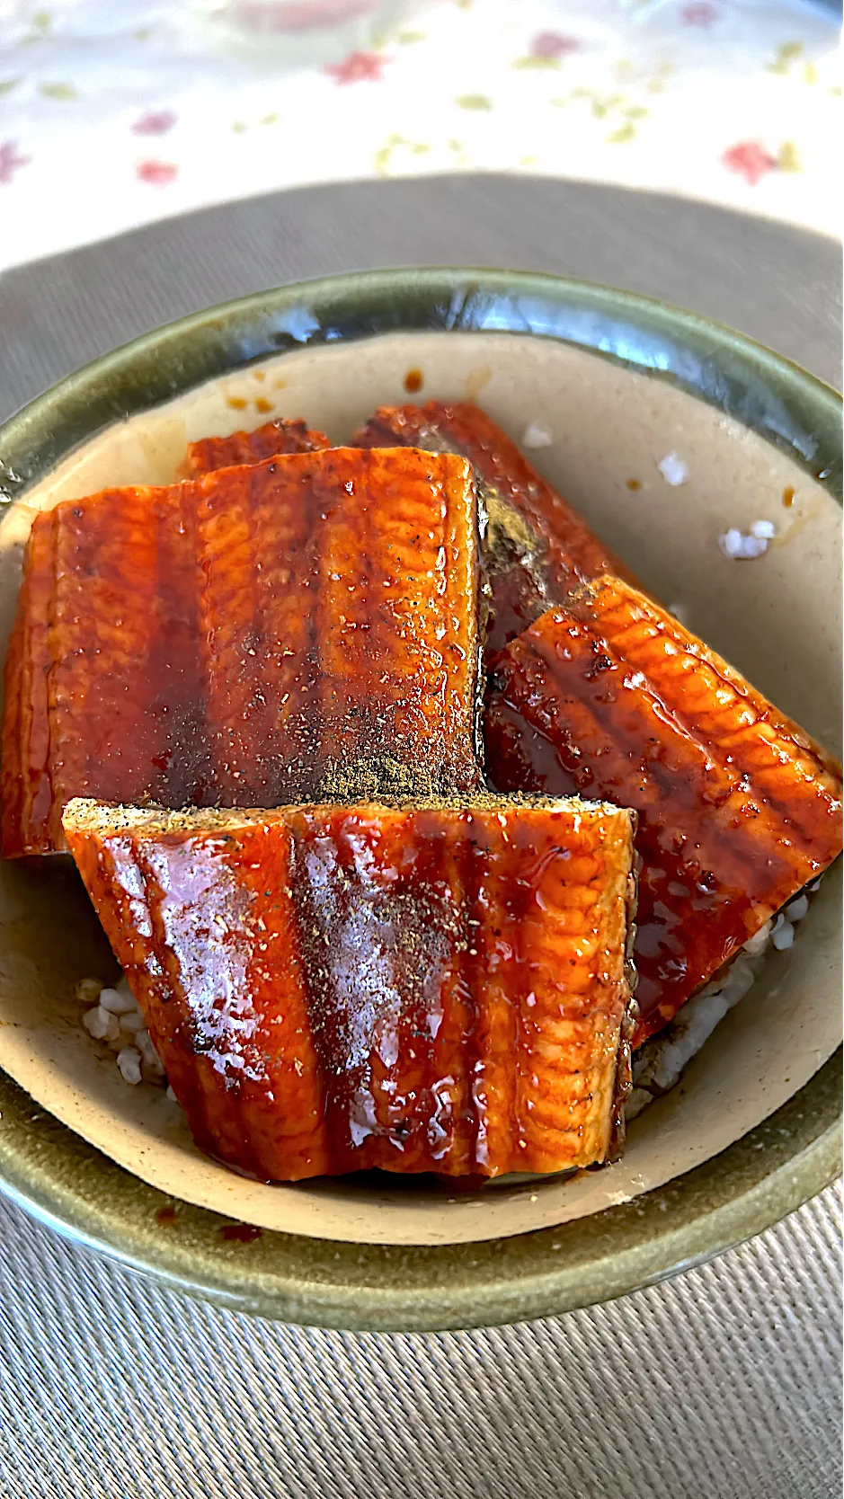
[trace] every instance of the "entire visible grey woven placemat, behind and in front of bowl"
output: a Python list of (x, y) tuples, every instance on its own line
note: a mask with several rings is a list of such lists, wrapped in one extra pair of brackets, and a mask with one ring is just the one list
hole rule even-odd
[[(649, 193), (478, 177), (303, 189), (0, 277), (0, 415), (208, 303), (325, 271), (510, 264), (663, 295), (837, 382), (837, 246)], [(624, 1301), (339, 1334), (217, 1312), (0, 1202), (3, 1499), (831, 1499), (841, 1193)]]

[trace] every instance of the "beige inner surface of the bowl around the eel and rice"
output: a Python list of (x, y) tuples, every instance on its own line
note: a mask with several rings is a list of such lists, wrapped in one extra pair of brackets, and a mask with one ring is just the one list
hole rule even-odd
[[(478, 400), (517, 441), (528, 427), (547, 433), (552, 441), (529, 454), (537, 468), (649, 588), (682, 606), (693, 630), (840, 752), (840, 507), (789, 457), (670, 384), (513, 334), (391, 334), (285, 354), (100, 433), (0, 526), (3, 648), (36, 510), (108, 484), (166, 483), (186, 442), (271, 415), (304, 417), (334, 441), (348, 439), (376, 405), (408, 399), (411, 369), (423, 373), (418, 400)], [(682, 484), (660, 472), (667, 454), (685, 465)], [(754, 520), (775, 523), (775, 543), (753, 562), (727, 559), (718, 535)], [(201, 1156), (178, 1106), (160, 1088), (127, 1087), (114, 1055), (82, 1030), (73, 986), (88, 974), (111, 979), (114, 961), (70, 862), (0, 865), (0, 1066), (37, 1103), (162, 1192), (318, 1238), (489, 1240), (625, 1202), (759, 1124), (841, 1039), (835, 872), (795, 946), (766, 959), (681, 1085), (634, 1121), (618, 1165), (472, 1193), (375, 1177), (264, 1186)]]

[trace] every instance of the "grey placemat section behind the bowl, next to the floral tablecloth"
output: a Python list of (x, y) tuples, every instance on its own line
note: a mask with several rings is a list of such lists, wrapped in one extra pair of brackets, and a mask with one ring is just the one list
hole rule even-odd
[(297, 187), (0, 276), (0, 421), (60, 375), (211, 303), (381, 265), (513, 265), (730, 324), (838, 385), (841, 249), (666, 193), (535, 177)]

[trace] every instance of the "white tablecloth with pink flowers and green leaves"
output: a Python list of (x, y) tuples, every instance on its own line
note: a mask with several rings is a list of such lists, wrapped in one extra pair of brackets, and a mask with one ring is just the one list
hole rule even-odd
[(838, 22), (763, 0), (406, 0), (315, 69), (186, 0), (0, 0), (0, 268), (291, 184), (526, 171), (837, 231)]

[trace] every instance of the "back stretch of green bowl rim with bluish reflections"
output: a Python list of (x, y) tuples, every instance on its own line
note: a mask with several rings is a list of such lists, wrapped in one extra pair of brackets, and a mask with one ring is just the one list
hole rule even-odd
[[(639, 343), (625, 337), (627, 324), (613, 334), (619, 306), (636, 313)], [(66, 375), (0, 426), (0, 505), (105, 426), (202, 381), (297, 348), (411, 330), (528, 333), (669, 379), (784, 448), (844, 501), (841, 394), (735, 328), (640, 292), (546, 271), (397, 267), (237, 297)], [(184, 339), (192, 342), (187, 381)]]

